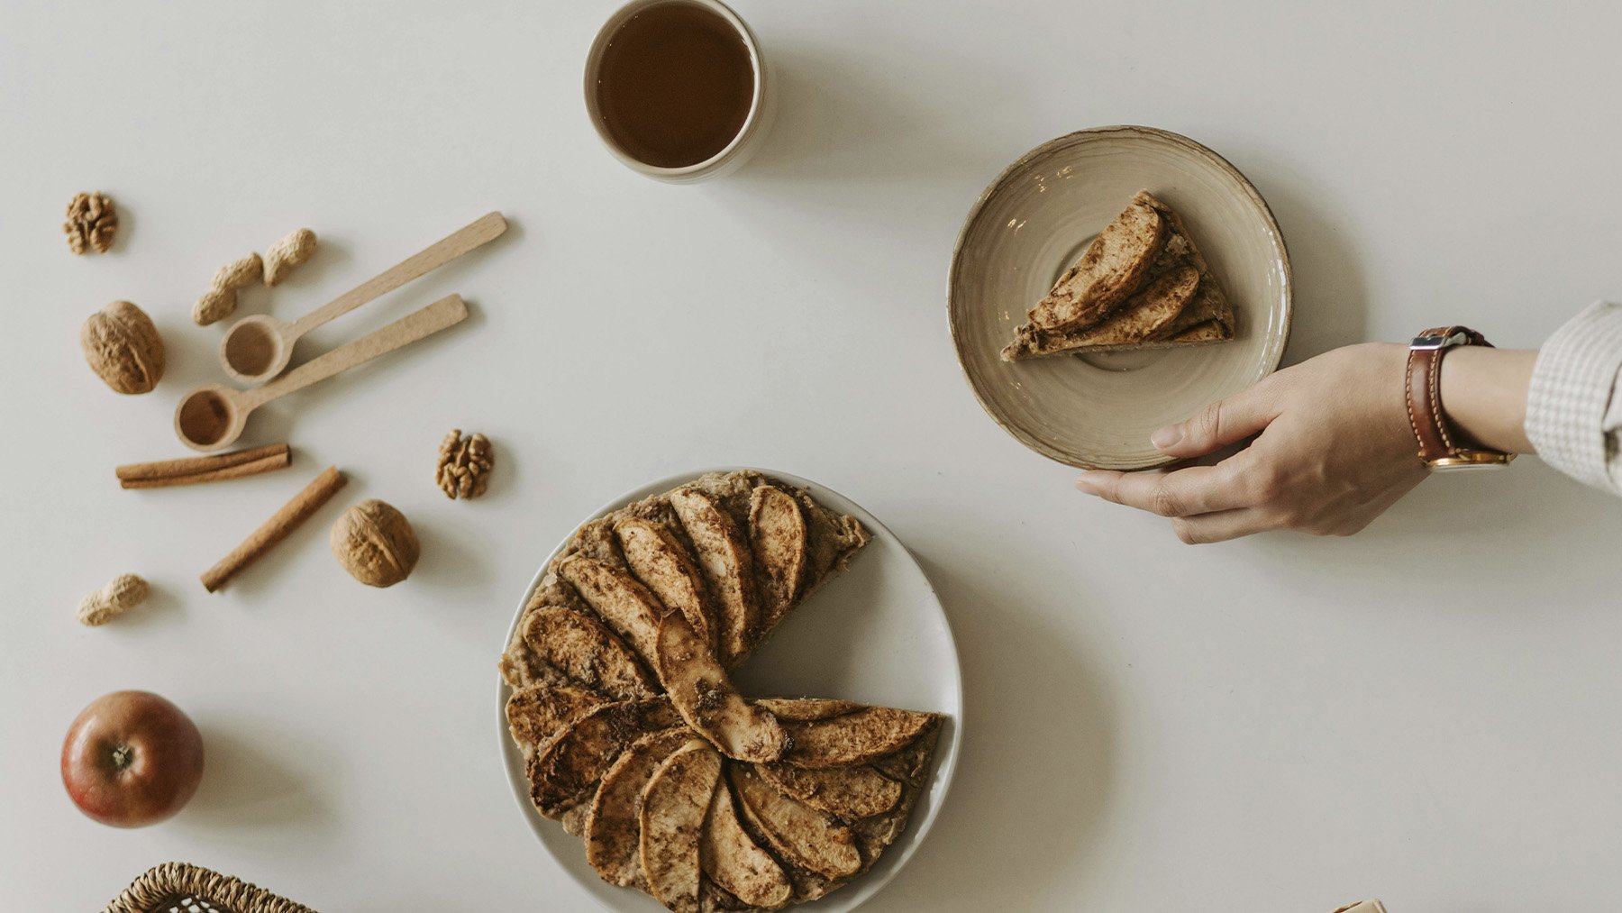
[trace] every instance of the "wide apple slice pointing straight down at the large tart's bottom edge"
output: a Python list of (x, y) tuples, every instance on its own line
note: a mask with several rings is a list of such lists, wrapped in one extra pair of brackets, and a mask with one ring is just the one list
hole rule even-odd
[(642, 790), (642, 877), (649, 894), (678, 913), (699, 911), (699, 834), (720, 767), (709, 743), (691, 739), (654, 769)]

